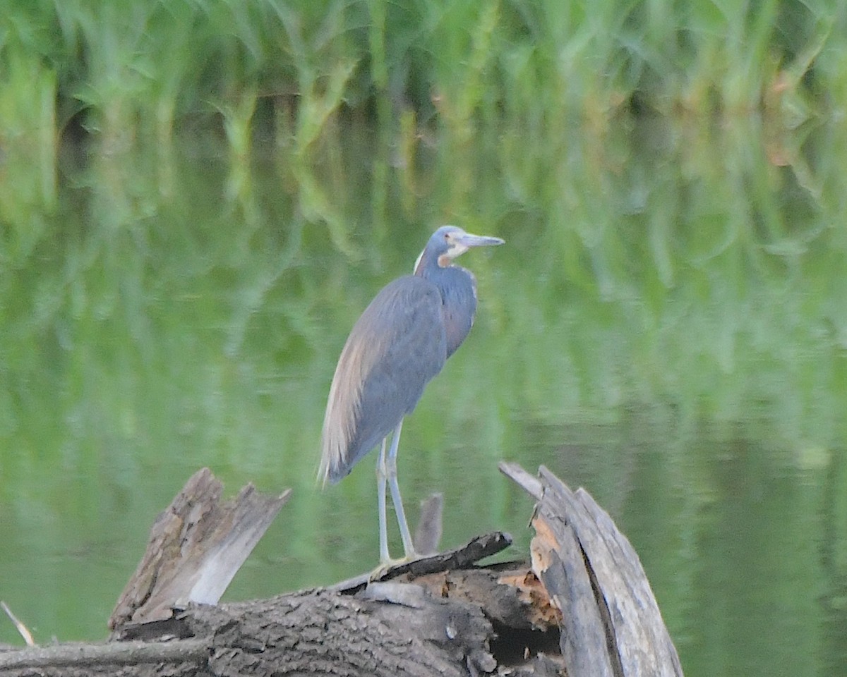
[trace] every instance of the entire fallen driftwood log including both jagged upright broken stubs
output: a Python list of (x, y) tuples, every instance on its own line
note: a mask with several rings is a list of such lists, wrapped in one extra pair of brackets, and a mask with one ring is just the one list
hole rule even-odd
[(154, 525), (109, 641), (0, 651), (0, 675), (681, 675), (609, 516), (544, 468), (501, 470), (536, 499), (529, 564), (478, 564), (511, 543), (494, 533), (378, 580), (230, 604), (221, 586), (287, 493), (220, 504), (200, 471)]

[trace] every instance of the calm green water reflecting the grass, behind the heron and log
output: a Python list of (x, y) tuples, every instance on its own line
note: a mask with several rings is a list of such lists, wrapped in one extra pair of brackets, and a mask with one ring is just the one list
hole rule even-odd
[(3, 598), (41, 641), (103, 636), (202, 465), (295, 490), (228, 597), (372, 567), (370, 462), (314, 481), (327, 388), (368, 300), (459, 223), (508, 244), (474, 256), (477, 327), (404, 427), (410, 520), (437, 490), (447, 545), (525, 548), (496, 461), (548, 465), (634, 542), (686, 674), (847, 671), (843, 130), (776, 166), (756, 120), (633, 125), (377, 173), (358, 129), (308, 162), (186, 143), (66, 167), (0, 258)]

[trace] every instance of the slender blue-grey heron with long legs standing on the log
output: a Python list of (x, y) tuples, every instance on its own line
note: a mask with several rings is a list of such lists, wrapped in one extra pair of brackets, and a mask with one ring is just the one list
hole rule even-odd
[(392, 562), (386, 482), (403, 541), (404, 557), (399, 561), (417, 557), (397, 485), (403, 419), (462, 345), (476, 315), (476, 278), (452, 261), (472, 247), (502, 244), (500, 238), (441, 226), (418, 256), (413, 274), (385, 285), (353, 325), (341, 350), (327, 399), (318, 479), (324, 484), (339, 482), (381, 443), (376, 466), (380, 566)]

